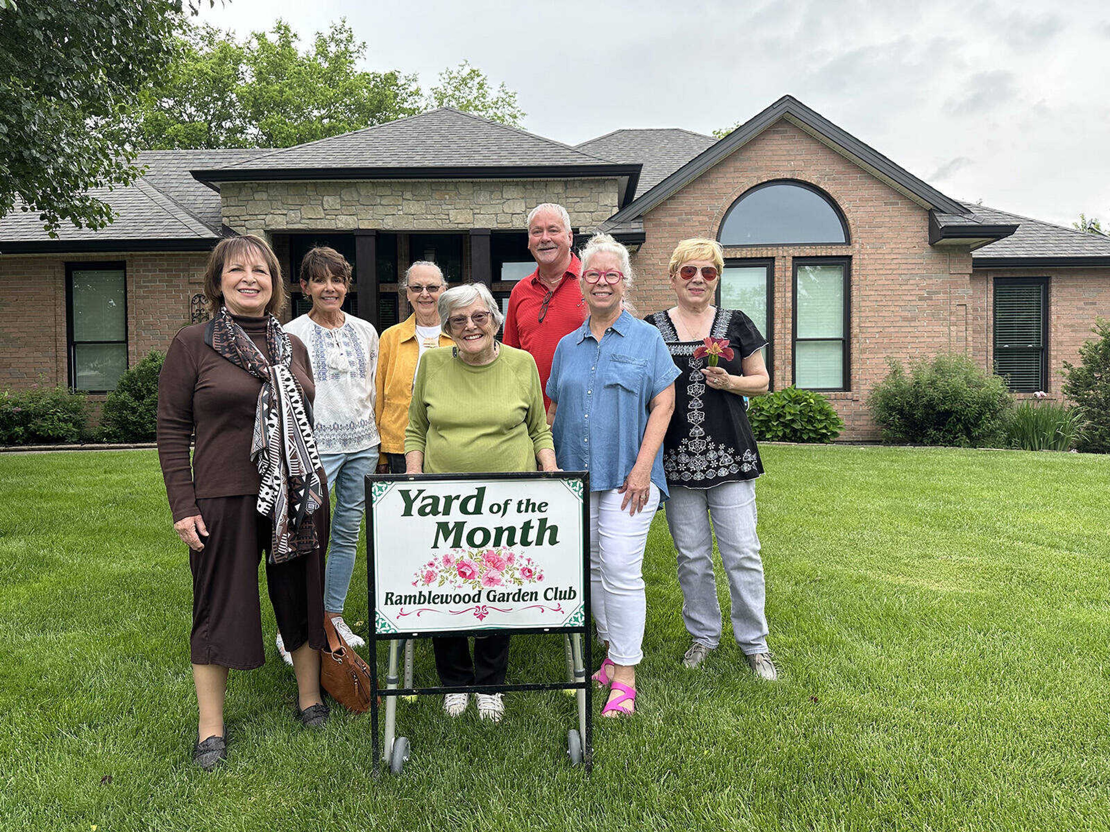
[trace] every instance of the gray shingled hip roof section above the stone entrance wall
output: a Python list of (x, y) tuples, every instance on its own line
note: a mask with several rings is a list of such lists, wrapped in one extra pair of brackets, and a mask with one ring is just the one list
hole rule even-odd
[[(514, 168), (608, 165), (568, 144), (505, 126), (452, 108), (398, 119), (353, 133), (321, 139), (221, 166), (236, 171), (296, 171), (326, 168)], [(214, 166), (195, 165), (220, 181)]]

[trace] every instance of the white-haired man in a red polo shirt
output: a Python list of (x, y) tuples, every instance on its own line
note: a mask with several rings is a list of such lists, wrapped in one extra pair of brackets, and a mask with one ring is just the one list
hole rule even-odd
[[(505, 314), (505, 343), (532, 354), (545, 390), (559, 338), (586, 319), (586, 302), (578, 285), (582, 263), (571, 253), (573, 240), (565, 207), (545, 202), (532, 209), (528, 251), (536, 260), (536, 271), (513, 286)], [(544, 407), (549, 404), (545, 392)]]

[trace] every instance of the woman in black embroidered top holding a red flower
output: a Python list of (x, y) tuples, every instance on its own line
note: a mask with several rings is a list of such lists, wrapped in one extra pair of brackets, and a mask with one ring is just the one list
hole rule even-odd
[[(663, 442), (663, 466), (670, 490), (667, 525), (678, 551), (683, 619), (693, 639), (683, 663), (696, 668), (720, 641), (712, 516), (728, 575), (733, 635), (751, 669), (774, 680), (756, 536), (754, 480), (763, 474), (763, 463), (745, 403), (745, 396), (767, 392), (769, 378), (759, 352), (767, 341), (739, 310), (712, 304), (724, 267), (719, 243), (682, 241), (670, 256), (677, 305), (647, 318), (663, 333), (682, 371), (675, 382), (675, 415)], [(718, 349), (723, 354), (713, 356)]]

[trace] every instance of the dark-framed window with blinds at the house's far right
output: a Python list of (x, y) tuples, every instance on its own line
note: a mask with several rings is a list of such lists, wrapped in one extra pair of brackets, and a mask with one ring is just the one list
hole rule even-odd
[(1015, 393), (1048, 389), (1048, 278), (995, 280), (995, 372)]

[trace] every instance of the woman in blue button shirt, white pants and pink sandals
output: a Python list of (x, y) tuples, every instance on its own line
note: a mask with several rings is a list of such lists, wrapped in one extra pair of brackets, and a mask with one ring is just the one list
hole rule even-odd
[(579, 258), (589, 317), (555, 348), (548, 420), (559, 467), (589, 473), (592, 608), (608, 651), (594, 681), (610, 688), (602, 716), (617, 717), (635, 710), (644, 546), (667, 496), (662, 448), (679, 371), (659, 331), (624, 308), (628, 250), (597, 234)]

